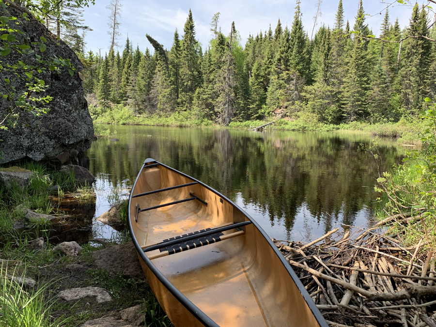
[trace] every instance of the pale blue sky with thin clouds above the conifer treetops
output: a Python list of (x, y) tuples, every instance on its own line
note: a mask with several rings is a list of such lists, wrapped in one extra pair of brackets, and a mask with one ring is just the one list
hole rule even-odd
[[(323, 0), (321, 5), (322, 17), (320, 23), (332, 26), (338, 8), (339, 0)], [(389, 1), (389, 2), (392, 2)], [(367, 18), (369, 27), (378, 34), (380, 24), (384, 17), (378, 13), (389, 4), (380, 0), (363, 0), (363, 8), (367, 14), (374, 15)], [(317, 0), (303, 0), (301, 12), (303, 14), (303, 25), (309, 36), (313, 27), (313, 16), (316, 12)], [(403, 28), (408, 24), (411, 9), (394, 2), (389, 7), (391, 21), (398, 16), (400, 25)], [(109, 27), (107, 25), (109, 10), (106, 6), (109, 0), (96, 0), (95, 5), (85, 8), (85, 24), (93, 31), (89, 31), (85, 41), (88, 50), (101, 53), (109, 48)], [(235, 22), (236, 30), (240, 32), (242, 45), (245, 45), (249, 33), (257, 34), (259, 31), (268, 30), (269, 24), (275, 29), (277, 20), (280, 18), (282, 25), (291, 27), (294, 18), (295, 0), (122, 0), (123, 13), (121, 19), (121, 33), (119, 50), (122, 51), (127, 34), (133, 42), (134, 47), (139, 45), (142, 51), (146, 47), (152, 48), (147, 41), (145, 34), (148, 33), (158, 40), (164, 47), (170, 48), (175, 29), (183, 34), (183, 26), (187, 19), (189, 8), (194, 17), (197, 39), (202, 43), (203, 49), (207, 47), (211, 39), (210, 21), (212, 16), (220, 12), (219, 25), (221, 30), (228, 34), (232, 21)], [(358, 0), (343, 0), (345, 21), (348, 19), (350, 25), (354, 24), (354, 17), (358, 9)], [(320, 25), (315, 28), (316, 29)]]

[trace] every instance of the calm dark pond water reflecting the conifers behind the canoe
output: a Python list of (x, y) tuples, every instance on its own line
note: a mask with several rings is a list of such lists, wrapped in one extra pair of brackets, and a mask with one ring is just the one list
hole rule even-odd
[[(152, 157), (201, 180), (255, 218), (270, 237), (303, 240), (372, 217), (377, 166), (358, 150), (371, 136), (349, 132), (249, 132), (221, 128), (108, 126), (119, 141), (93, 142), (83, 164), (97, 178), (95, 217), (126, 196)], [(405, 149), (380, 141), (382, 171)], [(115, 190), (115, 191), (114, 191)], [(93, 234), (113, 230), (94, 223)]]

